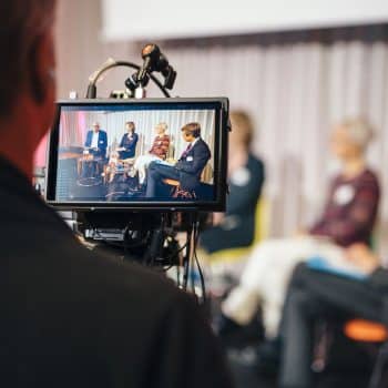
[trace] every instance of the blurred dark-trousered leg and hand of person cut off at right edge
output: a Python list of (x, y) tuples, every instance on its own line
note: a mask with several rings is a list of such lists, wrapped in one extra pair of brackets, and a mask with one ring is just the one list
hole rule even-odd
[(292, 278), (280, 325), (280, 387), (313, 388), (314, 324), (327, 317), (364, 318), (388, 326), (388, 270), (364, 244), (346, 258), (365, 274), (351, 278), (299, 264)]

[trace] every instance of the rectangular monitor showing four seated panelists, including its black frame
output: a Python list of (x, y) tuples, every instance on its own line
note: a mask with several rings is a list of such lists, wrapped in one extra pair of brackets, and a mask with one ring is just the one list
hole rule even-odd
[(47, 200), (62, 208), (221, 211), (227, 99), (58, 103)]

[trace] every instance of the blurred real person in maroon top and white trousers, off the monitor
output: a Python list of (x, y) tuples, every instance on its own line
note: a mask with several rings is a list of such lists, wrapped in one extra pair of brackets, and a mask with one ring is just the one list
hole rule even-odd
[[(261, 305), (266, 336), (276, 336), (295, 265), (312, 256), (339, 263), (344, 247), (370, 242), (380, 196), (378, 178), (365, 160), (371, 133), (361, 119), (345, 120), (334, 127), (331, 152), (341, 162), (341, 171), (331, 182), (324, 213), (306, 232), (255, 247), (239, 285), (222, 305), (233, 324), (247, 325)], [(225, 323), (227, 327), (229, 321)]]

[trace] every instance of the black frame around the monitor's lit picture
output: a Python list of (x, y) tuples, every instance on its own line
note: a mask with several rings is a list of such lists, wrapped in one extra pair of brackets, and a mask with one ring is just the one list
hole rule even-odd
[[(166, 106), (187, 105), (201, 109), (205, 105), (214, 105), (215, 127), (214, 127), (214, 187), (215, 197), (213, 201), (133, 201), (133, 202), (85, 202), (85, 201), (58, 201), (57, 174), (58, 174), (58, 152), (59, 152), (59, 127), (60, 115), (63, 106), (99, 106), (99, 105), (137, 105)], [(157, 108), (156, 108), (157, 109)], [(228, 99), (227, 98), (195, 98), (195, 99), (142, 99), (142, 100), (60, 100), (57, 102), (57, 115), (53, 129), (50, 133), (48, 150), (48, 169), (45, 201), (58, 210), (71, 211), (205, 211), (223, 212), (226, 203), (226, 172), (227, 172), (227, 141), (228, 141)]]

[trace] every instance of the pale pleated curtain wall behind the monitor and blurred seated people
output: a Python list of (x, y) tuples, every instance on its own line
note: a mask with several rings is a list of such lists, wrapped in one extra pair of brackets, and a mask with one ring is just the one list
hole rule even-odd
[[(136, 43), (103, 43), (99, 0), (59, 0), (58, 92), (83, 96), (88, 76), (109, 57), (141, 62)], [(320, 210), (334, 163), (330, 125), (367, 116), (376, 127), (369, 161), (388, 192), (388, 27), (302, 31), (160, 42), (178, 72), (174, 94), (229, 96), (257, 127), (254, 152), (267, 167), (273, 235), (308, 224)], [(99, 84), (99, 94), (123, 89), (129, 70)], [(150, 88), (150, 94), (159, 92)], [(379, 231), (388, 224), (381, 203)], [(388, 238), (380, 238), (385, 252)]]

